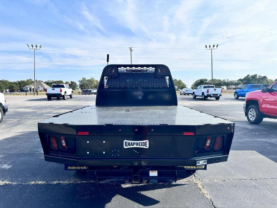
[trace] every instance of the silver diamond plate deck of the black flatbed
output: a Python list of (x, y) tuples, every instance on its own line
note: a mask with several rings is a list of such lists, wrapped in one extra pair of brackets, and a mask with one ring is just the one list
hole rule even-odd
[(205, 125), (233, 123), (181, 105), (174, 106), (87, 106), (57, 115), (40, 123), (70, 125)]

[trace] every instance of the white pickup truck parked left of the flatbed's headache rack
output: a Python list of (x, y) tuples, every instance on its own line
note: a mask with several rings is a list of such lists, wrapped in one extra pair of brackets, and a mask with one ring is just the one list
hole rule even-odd
[(73, 98), (73, 90), (67, 84), (53, 84), (51, 88), (46, 88), (46, 95), (48, 100), (52, 97), (57, 99), (63, 97), (63, 100), (66, 100), (66, 96)]

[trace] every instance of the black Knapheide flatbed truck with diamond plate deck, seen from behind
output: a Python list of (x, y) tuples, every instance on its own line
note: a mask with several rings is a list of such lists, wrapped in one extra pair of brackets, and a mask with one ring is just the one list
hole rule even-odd
[(96, 105), (38, 123), (44, 158), (97, 180), (164, 183), (228, 159), (234, 123), (177, 105), (165, 65), (108, 65)]

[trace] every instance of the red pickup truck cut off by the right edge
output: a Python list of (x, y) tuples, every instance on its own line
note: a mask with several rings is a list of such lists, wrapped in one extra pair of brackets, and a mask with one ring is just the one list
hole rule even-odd
[(277, 119), (277, 82), (267, 88), (246, 94), (243, 104), (245, 116), (250, 123), (259, 124), (264, 118)]

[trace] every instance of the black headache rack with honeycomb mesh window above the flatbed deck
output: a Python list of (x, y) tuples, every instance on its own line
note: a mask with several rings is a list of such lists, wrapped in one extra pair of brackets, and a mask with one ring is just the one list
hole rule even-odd
[(177, 105), (177, 96), (165, 65), (108, 65), (99, 82), (96, 105)]

